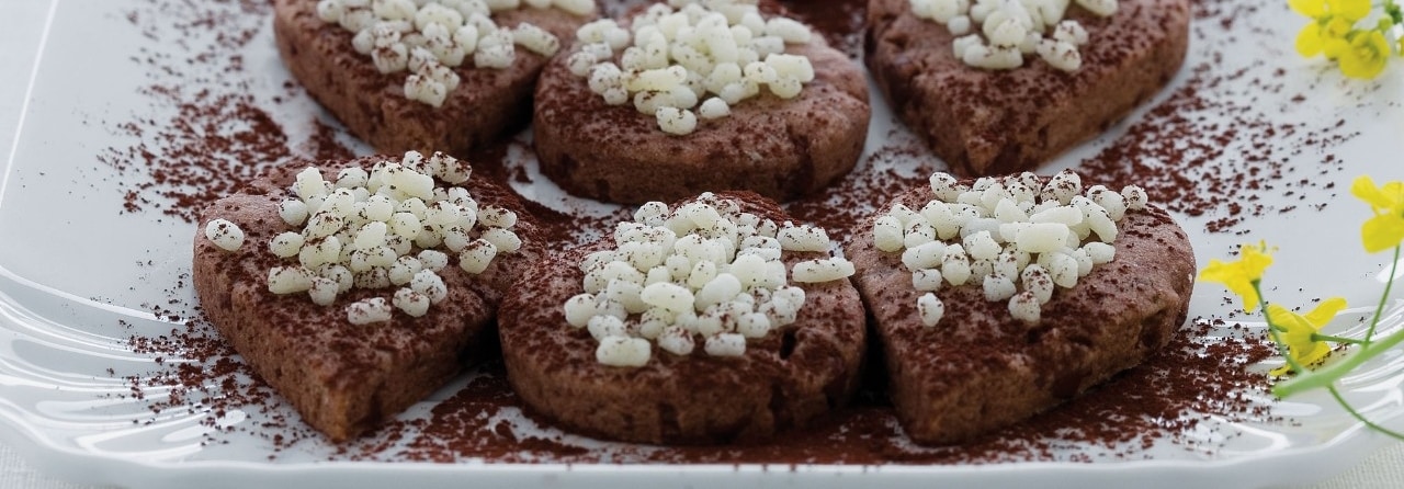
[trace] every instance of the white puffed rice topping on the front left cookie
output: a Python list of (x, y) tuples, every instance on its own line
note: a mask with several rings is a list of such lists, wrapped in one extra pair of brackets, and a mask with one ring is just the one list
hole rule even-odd
[[(371, 171), (341, 170), (334, 181), (314, 167), (302, 170), (278, 205), (292, 229), (268, 240), (268, 252), (285, 261), (268, 270), (268, 291), (306, 292), (326, 306), (352, 288), (395, 289), (388, 298), (348, 305), (347, 320), (354, 325), (390, 320), (396, 309), (414, 318), (428, 313), (448, 296), (439, 273), (451, 254), (463, 271), (480, 274), (498, 254), (522, 244), (512, 230), (515, 212), (479, 204), (456, 185), (470, 173), (452, 156), (418, 152), (379, 162)], [(216, 219), (206, 237), (229, 249), (233, 236), (243, 240), (236, 230)]]

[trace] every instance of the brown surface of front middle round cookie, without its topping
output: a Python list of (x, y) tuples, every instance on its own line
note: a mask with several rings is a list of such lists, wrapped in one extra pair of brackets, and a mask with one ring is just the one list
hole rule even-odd
[[(743, 209), (783, 219), (755, 194)], [(651, 347), (642, 367), (595, 360), (597, 340), (567, 323), (563, 305), (583, 292), (581, 260), (604, 240), (552, 253), (503, 302), (500, 336), (508, 381), (535, 413), (571, 430), (654, 444), (755, 443), (806, 426), (844, 405), (858, 385), (866, 326), (848, 280), (792, 284), (806, 291), (795, 323), (751, 339), (740, 357), (698, 347), (675, 356)], [(827, 257), (785, 252), (783, 260)]]

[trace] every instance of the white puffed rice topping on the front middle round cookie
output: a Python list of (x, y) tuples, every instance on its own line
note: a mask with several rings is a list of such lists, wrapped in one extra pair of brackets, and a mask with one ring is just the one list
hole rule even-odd
[(804, 289), (786, 275), (823, 282), (854, 274), (842, 257), (800, 261), (788, 271), (783, 252), (830, 253), (828, 235), (741, 212), (736, 201), (713, 194), (671, 212), (663, 202), (644, 204), (612, 239), (615, 249), (580, 263), (584, 292), (563, 305), (566, 322), (590, 330), (595, 358), (607, 365), (643, 365), (653, 344), (675, 356), (698, 346), (709, 356), (741, 356), (747, 339), (799, 316)]

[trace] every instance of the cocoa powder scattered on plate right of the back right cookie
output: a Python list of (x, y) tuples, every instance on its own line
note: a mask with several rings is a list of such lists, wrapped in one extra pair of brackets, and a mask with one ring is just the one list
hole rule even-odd
[[(1236, 18), (1257, 8), (1223, 0), (1193, 1), (1191, 45), (1202, 51), (1203, 59), (1186, 62), (1185, 80), (1130, 124), (1125, 135), (1081, 162), (1078, 171), (1116, 187), (1141, 185), (1151, 201), (1171, 211), (1212, 218), (1205, 229), (1212, 233), (1241, 232), (1251, 218), (1297, 208), (1266, 204), (1265, 195), (1324, 208), (1334, 193), (1330, 183), (1316, 177), (1344, 169), (1330, 150), (1356, 133), (1344, 131), (1341, 119), (1306, 114), (1299, 103), (1316, 86), (1287, 89), (1279, 60), (1254, 59), (1226, 70), (1236, 35), (1261, 30)], [(1266, 94), (1292, 103), (1268, 104)], [(1287, 163), (1300, 153), (1320, 163)], [(1309, 201), (1309, 194), (1328, 197)]]

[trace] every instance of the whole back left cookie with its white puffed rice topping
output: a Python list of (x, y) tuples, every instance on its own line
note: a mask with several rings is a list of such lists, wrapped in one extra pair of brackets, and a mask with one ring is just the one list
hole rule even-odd
[[(591, 0), (557, 0), (552, 8), (522, 6), (490, 17), (465, 15), (475, 3), (424, 4), (274, 1), (272, 25), (284, 65), (312, 98), (380, 152), (442, 150), (463, 156), (524, 128), (542, 66), (577, 27), (595, 15)], [(431, 22), (437, 27), (427, 27)], [(378, 24), (385, 27), (376, 28)], [(463, 25), (473, 34), (461, 32)], [(362, 28), (366, 34), (359, 34)], [(494, 30), (501, 32), (490, 35)], [(524, 30), (529, 34), (522, 37), (532, 41), (514, 41), (517, 31)], [(425, 42), (425, 32), (442, 41)], [(541, 34), (553, 38), (545, 41)], [(476, 39), (468, 41), (469, 37)], [(431, 55), (416, 59), (416, 45), (432, 48), (424, 51)], [(504, 62), (508, 51), (511, 56)], [(439, 59), (459, 65), (448, 66)], [(407, 83), (417, 73), (424, 74), (421, 83)]]

